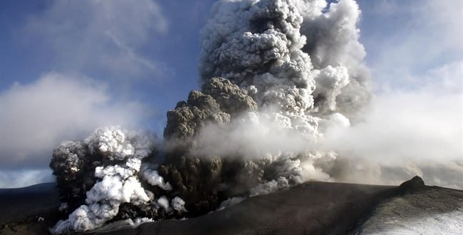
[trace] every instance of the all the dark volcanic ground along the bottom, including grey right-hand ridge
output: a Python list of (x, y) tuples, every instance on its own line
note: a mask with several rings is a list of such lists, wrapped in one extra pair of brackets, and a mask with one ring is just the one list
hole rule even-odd
[[(58, 219), (54, 184), (0, 189), (0, 199), (1, 235), (48, 234)], [(458, 234), (462, 211), (463, 191), (425, 186), (419, 177), (400, 187), (308, 182), (194, 219), (88, 234)]]

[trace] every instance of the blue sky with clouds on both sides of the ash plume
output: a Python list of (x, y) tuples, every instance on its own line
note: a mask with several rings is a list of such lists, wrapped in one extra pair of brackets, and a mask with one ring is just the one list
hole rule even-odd
[[(52, 180), (53, 147), (102, 125), (162, 135), (166, 111), (198, 88), (199, 38), (213, 3), (0, 1), (0, 187)], [(463, 2), (358, 4), (377, 110), (415, 107), (397, 122), (420, 120), (415, 130), (425, 132), (450, 123), (441, 129), (457, 131), (438, 136), (454, 147), (462, 141)]]

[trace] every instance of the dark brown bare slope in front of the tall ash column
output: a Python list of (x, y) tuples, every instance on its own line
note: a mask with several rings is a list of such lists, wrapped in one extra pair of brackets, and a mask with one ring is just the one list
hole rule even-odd
[(108, 234), (345, 234), (396, 188), (309, 182), (198, 218)]

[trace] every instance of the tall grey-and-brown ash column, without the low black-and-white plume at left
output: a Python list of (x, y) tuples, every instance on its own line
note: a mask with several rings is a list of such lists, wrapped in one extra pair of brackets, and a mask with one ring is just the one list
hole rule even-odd
[(229, 197), (331, 180), (336, 153), (317, 143), (328, 127), (355, 122), (370, 98), (359, 15), (354, 1), (328, 10), (324, 1), (214, 5), (202, 91), (167, 114), (172, 151), (160, 166), (192, 214)]

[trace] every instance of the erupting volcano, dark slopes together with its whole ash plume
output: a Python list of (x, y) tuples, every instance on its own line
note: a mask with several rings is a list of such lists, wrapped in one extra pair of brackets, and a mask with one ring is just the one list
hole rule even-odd
[[(390, 183), (459, 187), (461, 164), (426, 170), (363, 135), (375, 95), (360, 16), (354, 0), (217, 1), (199, 88), (162, 137), (115, 125), (61, 142), (56, 184), (2, 189), (2, 234), (458, 233), (462, 191)], [(343, 148), (373, 144), (385, 153)]]

